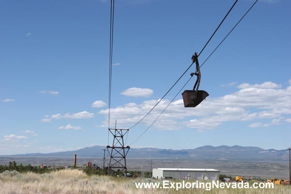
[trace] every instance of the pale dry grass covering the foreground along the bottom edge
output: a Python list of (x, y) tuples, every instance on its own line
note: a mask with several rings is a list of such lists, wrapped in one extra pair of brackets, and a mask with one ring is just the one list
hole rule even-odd
[(154, 179), (125, 179), (87, 176), (77, 169), (50, 174), (0, 174), (0, 194), (291, 194), (291, 186), (275, 185), (274, 189), (136, 189), (134, 182)]

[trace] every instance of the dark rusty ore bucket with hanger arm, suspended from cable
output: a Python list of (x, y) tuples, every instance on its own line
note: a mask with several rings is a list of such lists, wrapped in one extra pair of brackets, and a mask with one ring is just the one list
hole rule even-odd
[[(201, 79), (201, 73), (200, 73), (200, 67), (197, 59), (197, 52), (192, 56), (193, 63), (196, 63), (196, 72), (191, 73), (191, 76), (195, 75), (197, 76), (197, 80), (195, 82), (193, 90), (185, 90), (182, 93), (183, 101), (184, 101), (184, 107), (196, 107), (199, 105), (206, 97), (209, 96), (209, 94), (204, 90), (198, 90), (200, 85), (200, 79)], [(195, 87), (197, 86), (196, 90)]]

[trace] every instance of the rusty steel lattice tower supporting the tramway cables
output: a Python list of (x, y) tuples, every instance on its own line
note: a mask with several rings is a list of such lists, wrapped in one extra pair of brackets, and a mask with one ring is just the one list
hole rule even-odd
[(112, 146), (107, 146), (110, 153), (108, 174), (119, 175), (121, 171), (127, 173), (126, 155), (129, 152), (129, 146), (124, 146), (123, 137), (129, 132), (129, 129), (108, 129), (113, 135)]

